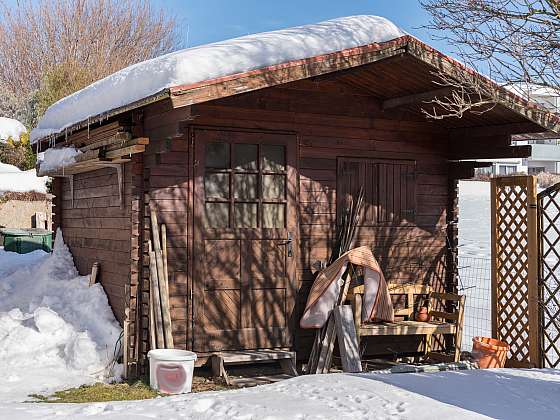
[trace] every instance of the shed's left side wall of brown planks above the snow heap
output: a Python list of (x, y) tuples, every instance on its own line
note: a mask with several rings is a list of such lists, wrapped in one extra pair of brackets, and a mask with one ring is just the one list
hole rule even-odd
[[(59, 181), (60, 180), (60, 181)], [(74, 175), (74, 202), (70, 180), (58, 178), (60, 185), (56, 211), (64, 240), (81, 275), (89, 274), (92, 264), (100, 264), (102, 284), (117, 319), (124, 316), (125, 284), (131, 269), (131, 191), (132, 164), (124, 167), (124, 206), (121, 208), (117, 173), (114, 168)]]

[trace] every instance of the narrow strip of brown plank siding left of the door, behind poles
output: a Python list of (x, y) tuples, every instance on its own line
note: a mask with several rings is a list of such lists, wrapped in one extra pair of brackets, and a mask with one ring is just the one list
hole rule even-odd
[[(167, 228), (169, 301), (175, 348), (190, 348), (189, 273), (192, 268), (189, 253), (192, 206), (189, 132), (184, 120), (188, 109), (173, 109), (169, 101), (147, 107), (143, 112), (143, 135), (150, 144), (143, 154), (143, 318), (148, 325), (149, 259), (147, 241), (150, 233), (150, 208), (155, 208), (158, 222)], [(148, 350), (147, 332), (143, 334), (143, 351)]]

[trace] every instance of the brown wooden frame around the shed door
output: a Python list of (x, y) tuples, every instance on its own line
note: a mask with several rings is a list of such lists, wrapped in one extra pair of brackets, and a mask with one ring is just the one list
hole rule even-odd
[[(299, 284), (299, 276), (298, 276), (298, 269), (300, 266), (299, 261), (299, 237), (300, 237), (300, 215), (299, 215), (299, 201), (300, 201), (300, 168), (299, 168), (299, 145), (300, 145), (300, 136), (296, 131), (292, 130), (270, 130), (270, 129), (254, 129), (254, 128), (243, 128), (243, 127), (231, 127), (231, 126), (214, 126), (214, 125), (206, 125), (206, 124), (192, 124), (189, 125), (188, 128), (188, 137), (189, 137), (189, 149), (191, 151), (189, 156), (189, 165), (190, 165), (190, 206), (189, 206), (189, 215), (188, 215), (188, 226), (190, 229), (190, 235), (188, 235), (188, 252), (189, 252), (189, 276), (190, 276), (190, 287), (189, 287), (189, 299), (188, 304), (190, 305), (187, 308), (187, 313), (190, 317), (190, 322), (188, 323), (187, 329), (189, 333), (188, 342), (190, 344), (190, 348), (195, 348), (195, 337), (196, 337), (196, 329), (197, 329), (197, 319), (196, 314), (197, 312), (197, 305), (199, 304), (200, 300), (196, 298), (196, 294), (200, 294), (203, 292), (204, 282), (200, 279), (203, 278), (204, 273), (202, 271), (203, 260), (202, 257), (204, 255), (204, 249), (202, 247), (202, 241), (199, 237), (197, 237), (195, 224), (196, 224), (196, 214), (197, 214), (197, 203), (199, 202), (196, 197), (196, 193), (198, 188), (200, 188), (200, 180), (197, 180), (197, 166), (201, 164), (199, 162), (197, 156), (197, 141), (196, 141), (196, 132), (197, 131), (222, 131), (222, 132), (235, 132), (235, 133), (252, 133), (252, 134), (271, 134), (271, 135), (288, 135), (292, 136), (294, 139), (293, 144), (293, 151), (294, 154), (294, 173), (293, 173), (293, 180), (294, 183), (294, 199), (290, 205), (288, 200), (288, 207), (292, 207), (292, 211), (294, 213), (294, 228), (292, 232), (292, 248), (293, 248), (293, 264), (291, 268), (291, 275), (288, 276), (287, 279), (287, 292), (289, 293), (289, 298), (292, 303), (291, 311), (287, 312), (287, 320), (286, 326), (288, 329), (288, 333), (290, 335), (290, 344), (293, 348), (295, 345), (296, 339), (296, 328), (297, 328), (297, 286)], [(289, 178), (289, 177), (288, 177)], [(288, 179), (288, 183), (290, 180)], [(289, 191), (286, 192), (288, 194)], [(288, 299), (287, 299), (288, 300)], [(199, 352), (200, 354), (210, 354), (211, 352)]]

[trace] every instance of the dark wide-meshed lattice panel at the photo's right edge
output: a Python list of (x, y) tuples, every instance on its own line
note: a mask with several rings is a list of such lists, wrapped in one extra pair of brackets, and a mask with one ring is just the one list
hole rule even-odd
[(544, 367), (560, 366), (560, 184), (538, 195), (539, 309)]

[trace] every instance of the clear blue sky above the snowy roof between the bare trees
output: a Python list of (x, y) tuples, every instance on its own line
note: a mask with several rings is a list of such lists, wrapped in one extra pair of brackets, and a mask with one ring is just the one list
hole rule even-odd
[(407, 32), (448, 52), (421, 26), (429, 20), (417, 0), (154, 0), (177, 18), (192, 47), (255, 32), (320, 22), (340, 16), (384, 16)]

